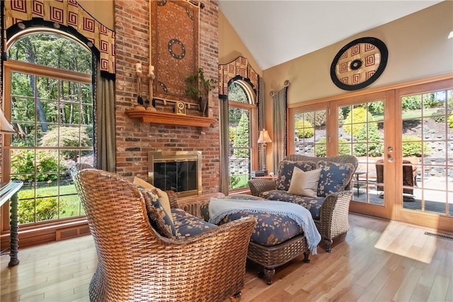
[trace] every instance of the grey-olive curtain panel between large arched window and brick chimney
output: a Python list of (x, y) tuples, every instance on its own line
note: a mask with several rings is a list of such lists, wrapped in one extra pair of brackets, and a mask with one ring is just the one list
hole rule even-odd
[(115, 81), (96, 74), (96, 167), (116, 172)]

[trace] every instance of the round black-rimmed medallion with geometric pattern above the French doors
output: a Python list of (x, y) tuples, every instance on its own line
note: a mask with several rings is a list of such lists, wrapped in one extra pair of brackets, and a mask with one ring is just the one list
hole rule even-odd
[(338, 88), (354, 91), (379, 78), (389, 51), (376, 37), (361, 37), (345, 45), (331, 64), (331, 79)]

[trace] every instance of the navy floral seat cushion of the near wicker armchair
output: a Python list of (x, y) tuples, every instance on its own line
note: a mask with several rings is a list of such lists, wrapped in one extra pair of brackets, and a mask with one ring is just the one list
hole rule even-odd
[(198, 219), (182, 209), (171, 209), (171, 216), (173, 216), (175, 222), (177, 239), (196, 236), (217, 227), (215, 224)]

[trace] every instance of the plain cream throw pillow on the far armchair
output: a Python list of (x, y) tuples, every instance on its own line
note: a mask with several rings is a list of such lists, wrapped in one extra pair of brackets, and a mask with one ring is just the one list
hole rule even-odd
[(321, 175), (321, 169), (304, 172), (294, 167), (288, 193), (316, 197), (318, 194), (319, 175)]

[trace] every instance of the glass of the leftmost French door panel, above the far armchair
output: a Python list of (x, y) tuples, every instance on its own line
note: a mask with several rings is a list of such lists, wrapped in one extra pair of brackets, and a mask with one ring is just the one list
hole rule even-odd
[(326, 110), (294, 115), (294, 154), (326, 156)]

